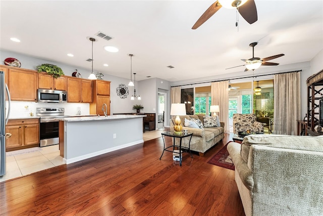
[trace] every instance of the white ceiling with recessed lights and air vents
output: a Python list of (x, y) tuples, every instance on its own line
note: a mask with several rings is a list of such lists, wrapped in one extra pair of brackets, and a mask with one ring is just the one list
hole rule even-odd
[[(280, 65), (310, 61), (323, 49), (323, 1), (255, 0), (258, 21), (248, 24), (221, 8), (191, 27), (214, 1), (1, 1), (1, 49), (119, 77), (170, 81), (243, 71), (240, 59), (277, 54)], [(113, 39), (95, 34), (102, 31)], [(21, 42), (13, 42), (17, 37)], [(108, 53), (103, 46), (119, 48)], [(72, 53), (74, 57), (68, 57)], [(8, 56), (7, 56), (8, 57)], [(1, 57), (1, 61), (7, 57)], [(12, 56), (11, 56), (12, 57)], [(103, 64), (109, 64), (104, 67)], [(167, 66), (175, 68), (170, 69)], [(261, 66), (275, 67), (275, 66)]]

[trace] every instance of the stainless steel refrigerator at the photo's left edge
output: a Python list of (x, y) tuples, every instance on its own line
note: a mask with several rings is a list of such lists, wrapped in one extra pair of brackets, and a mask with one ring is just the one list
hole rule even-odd
[[(8, 95), (8, 110), (6, 110), (6, 93)], [(0, 176), (6, 175), (6, 124), (10, 115), (10, 103), (5, 72), (0, 71)]]

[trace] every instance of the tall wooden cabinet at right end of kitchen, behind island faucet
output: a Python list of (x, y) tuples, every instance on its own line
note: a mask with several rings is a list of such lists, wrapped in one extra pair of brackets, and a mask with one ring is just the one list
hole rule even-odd
[(103, 104), (106, 104), (106, 113), (110, 115), (110, 81), (93, 80), (93, 102), (90, 103), (90, 114), (104, 115)]

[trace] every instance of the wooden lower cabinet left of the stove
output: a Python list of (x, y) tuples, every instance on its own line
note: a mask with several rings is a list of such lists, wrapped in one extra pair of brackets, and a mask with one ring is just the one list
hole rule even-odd
[(12, 134), (6, 139), (6, 149), (39, 144), (39, 118), (10, 119), (6, 133)]

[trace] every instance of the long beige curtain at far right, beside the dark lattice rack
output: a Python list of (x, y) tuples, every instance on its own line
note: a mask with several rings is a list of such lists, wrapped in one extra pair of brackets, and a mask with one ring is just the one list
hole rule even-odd
[(274, 134), (297, 135), (300, 100), (300, 73), (275, 74)]

